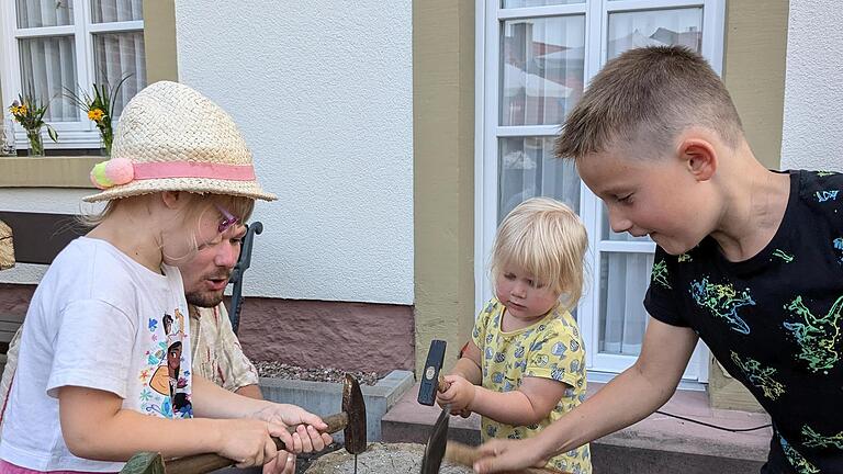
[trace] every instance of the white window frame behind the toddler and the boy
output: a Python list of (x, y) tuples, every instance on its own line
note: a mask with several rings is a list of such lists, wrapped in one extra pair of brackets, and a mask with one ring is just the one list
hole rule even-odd
[[(498, 78), (501, 22), (520, 18), (585, 14), (585, 83), (606, 61), (608, 21), (614, 12), (636, 12), (676, 8), (702, 8), (701, 53), (717, 74), (722, 74), (726, 0), (586, 0), (583, 3), (548, 7), (501, 9), (501, 0), (475, 0), (475, 135), (474, 135), (474, 289), (479, 312), (492, 295), (488, 278), (488, 256), (497, 226), (498, 139), (506, 136), (555, 136), (557, 125), (498, 125)], [(595, 34), (597, 32), (597, 34)], [(589, 380), (606, 381), (629, 368), (633, 356), (598, 353), (598, 319), (600, 309), (599, 262), (603, 253), (653, 253), (652, 241), (618, 241), (597, 239), (604, 222), (603, 206), (587, 187), (581, 185), (580, 213), (589, 235), (587, 263), (592, 269), (589, 292), (577, 306), (582, 334), (585, 338), (586, 365)], [(708, 382), (708, 349), (699, 343), (683, 375), (683, 386), (701, 388)]]

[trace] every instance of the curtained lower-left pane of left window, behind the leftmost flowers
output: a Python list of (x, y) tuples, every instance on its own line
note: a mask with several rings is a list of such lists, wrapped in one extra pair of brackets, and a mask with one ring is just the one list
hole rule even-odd
[(44, 120), (74, 122), (79, 111), (64, 97), (65, 88), (76, 89), (74, 36), (47, 36), (18, 41), (23, 89), (49, 101)]

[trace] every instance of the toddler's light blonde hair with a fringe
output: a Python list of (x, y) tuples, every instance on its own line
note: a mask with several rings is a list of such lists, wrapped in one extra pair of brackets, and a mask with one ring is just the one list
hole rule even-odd
[(507, 264), (516, 264), (560, 295), (566, 309), (583, 293), (588, 236), (580, 217), (550, 198), (532, 198), (516, 206), (501, 223), (492, 247), (492, 280)]

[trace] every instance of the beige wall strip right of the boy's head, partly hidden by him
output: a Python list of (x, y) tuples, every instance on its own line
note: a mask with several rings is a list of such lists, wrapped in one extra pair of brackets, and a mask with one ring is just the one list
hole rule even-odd
[[(727, 3), (723, 80), (753, 153), (772, 169), (780, 162), (788, 5), (787, 0)], [(716, 408), (762, 409), (713, 360), (708, 393)]]

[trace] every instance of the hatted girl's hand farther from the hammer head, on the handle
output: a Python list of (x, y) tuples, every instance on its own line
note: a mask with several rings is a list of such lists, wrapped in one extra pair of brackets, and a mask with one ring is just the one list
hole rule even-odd
[(257, 419), (226, 419), (218, 425), (220, 448), (216, 453), (237, 462), (237, 467), (262, 465), (276, 458), (278, 449), (270, 433), (283, 431), (286, 427), (278, 422)]

